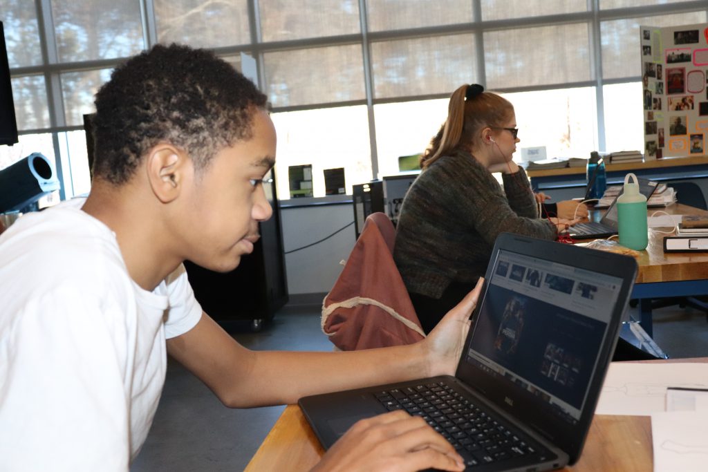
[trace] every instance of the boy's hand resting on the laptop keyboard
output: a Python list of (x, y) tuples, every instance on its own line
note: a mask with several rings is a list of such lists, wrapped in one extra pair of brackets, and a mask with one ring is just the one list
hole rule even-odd
[(312, 472), (463, 471), (462, 457), (423, 418), (397, 410), (356, 422)]

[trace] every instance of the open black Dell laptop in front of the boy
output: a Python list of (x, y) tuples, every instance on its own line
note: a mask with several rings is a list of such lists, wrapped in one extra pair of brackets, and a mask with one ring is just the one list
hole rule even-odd
[(583, 449), (636, 277), (633, 258), (501, 234), (455, 376), (304, 397), (327, 449), (361, 418), (422, 416), (467, 470), (542, 471)]

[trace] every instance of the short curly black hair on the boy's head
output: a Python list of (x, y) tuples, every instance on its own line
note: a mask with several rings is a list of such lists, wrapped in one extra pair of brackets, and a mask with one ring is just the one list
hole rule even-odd
[(219, 150), (253, 137), (253, 111), (267, 98), (212, 52), (172, 44), (116, 67), (95, 103), (93, 175), (120, 185), (160, 142), (203, 170)]

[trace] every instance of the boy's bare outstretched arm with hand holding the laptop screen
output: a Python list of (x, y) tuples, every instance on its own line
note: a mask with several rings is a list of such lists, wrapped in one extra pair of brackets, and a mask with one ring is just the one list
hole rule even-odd
[(447, 313), (428, 338), (413, 344), (351, 352), (252, 351), (206, 314), (167, 350), (230, 407), (296, 403), (328, 391), (454, 374), (481, 282)]

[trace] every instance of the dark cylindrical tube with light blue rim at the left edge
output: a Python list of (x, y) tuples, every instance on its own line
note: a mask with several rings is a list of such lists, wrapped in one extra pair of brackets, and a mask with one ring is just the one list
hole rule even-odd
[(49, 159), (30, 154), (0, 171), (0, 213), (23, 209), (60, 187)]

